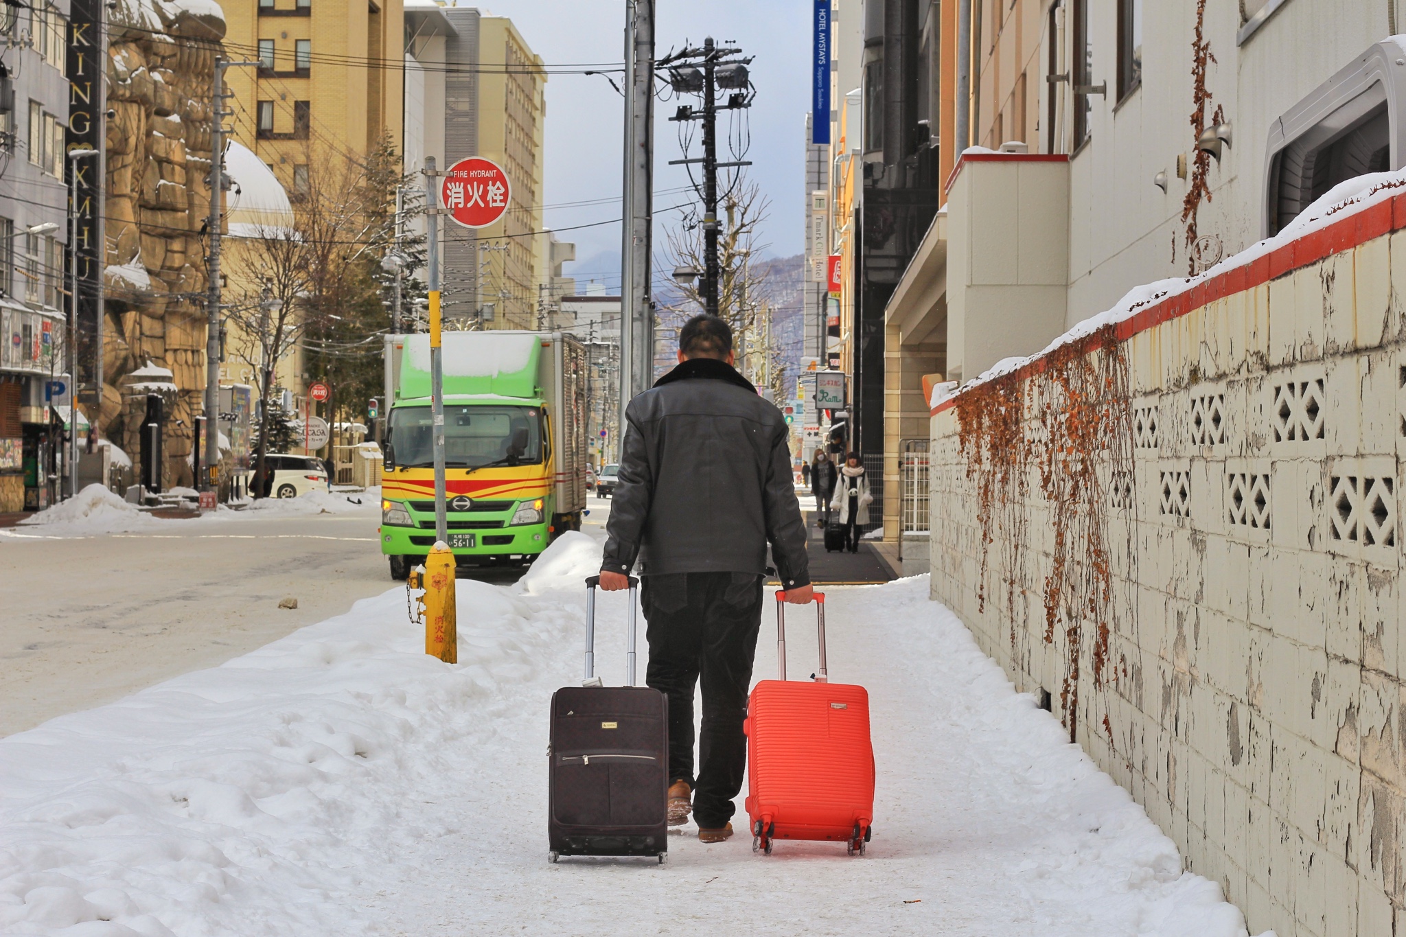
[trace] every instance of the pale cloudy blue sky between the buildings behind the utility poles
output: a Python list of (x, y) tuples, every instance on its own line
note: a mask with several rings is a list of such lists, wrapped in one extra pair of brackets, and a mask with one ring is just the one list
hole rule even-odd
[[(619, 67), (624, 60), (623, 0), (515, 0), (479, 8), (509, 17), (547, 65), (612, 62)], [(810, 17), (811, 4), (806, 0), (657, 0), (657, 56), (685, 42), (700, 45), (709, 35), (756, 56), (751, 65), (756, 100), (749, 114), (751, 149), (745, 159), (754, 162), (748, 169), (751, 178), (772, 202), (758, 246), (769, 244), (766, 253), (775, 256), (800, 253), (806, 233)], [(612, 77), (620, 81), (619, 73)], [(683, 167), (668, 166), (671, 159), (681, 157), (678, 124), (665, 119), (676, 107), (673, 100), (655, 103), (655, 267), (665, 263), (665, 230), (675, 228), (682, 216), (681, 211), (665, 209), (697, 202), (685, 188)], [(612, 292), (620, 284), (619, 222), (561, 229), (619, 219), (623, 114), (623, 100), (599, 74), (553, 74), (547, 80), (544, 223), (561, 232), (560, 240), (575, 242), (578, 263), (567, 264), (565, 273), (581, 281), (578, 289), (592, 277)], [(720, 152), (725, 152), (724, 128), (720, 119)], [(700, 140), (702, 133), (696, 136), (693, 156), (702, 156)], [(614, 201), (564, 205), (605, 198)]]

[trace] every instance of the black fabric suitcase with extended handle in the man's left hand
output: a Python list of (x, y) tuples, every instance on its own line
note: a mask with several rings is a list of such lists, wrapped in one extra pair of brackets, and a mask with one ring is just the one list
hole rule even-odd
[(669, 702), (634, 684), (636, 591), (630, 577), (627, 681), (603, 687), (595, 676), (595, 597), (586, 580), (586, 679), (551, 697), (548, 861), (561, 856), (668, 858)]

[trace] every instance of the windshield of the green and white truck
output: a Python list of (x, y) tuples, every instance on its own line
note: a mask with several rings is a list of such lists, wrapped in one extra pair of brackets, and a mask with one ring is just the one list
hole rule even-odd
[[(434, 465), (434, 416), (427, 406), (391, 410), (395, 464)], [(444, 406), (444, 465), (537, 465), (541, 462), (541, 410), (526, 406)]]

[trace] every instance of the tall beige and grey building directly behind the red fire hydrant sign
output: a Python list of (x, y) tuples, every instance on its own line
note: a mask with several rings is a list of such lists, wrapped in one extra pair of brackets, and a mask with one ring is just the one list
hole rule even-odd
[(491, 159), (512, 180), (502, 221), (477, 230), (444, 221), (443, 309), (464, 327), (533, 329), (568, 285), (567, 260), (543, 232), (547, 73), (512, 20), (433, 0), (405, 4), (405, 166)]

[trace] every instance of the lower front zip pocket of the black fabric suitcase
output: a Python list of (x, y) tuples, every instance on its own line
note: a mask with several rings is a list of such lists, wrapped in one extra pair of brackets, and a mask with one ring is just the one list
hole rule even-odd
[(598, 752), (558, 754), (553, 812), (565, 826), (650, 826), (664, 820), (659, 759)]

